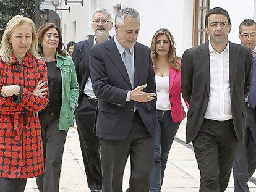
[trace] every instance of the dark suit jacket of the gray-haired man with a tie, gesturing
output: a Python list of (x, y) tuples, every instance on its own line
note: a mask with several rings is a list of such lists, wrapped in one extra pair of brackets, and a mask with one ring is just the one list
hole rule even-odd
[[(147, 83), (143, 91), (156, 93), (150, 48), (135, 43), (134, 67), (134, 88)], [(99, 98), (96, 135), (108, 140), (126, 139), (132, 127), (134, 101), (126, 101), (132, 85), (114, 38), (91, 48), (90, 73), (93, 91)], [(136, 102), (136, 106), (145, 127), (153, 135), (157, 126), (156, 99)]]

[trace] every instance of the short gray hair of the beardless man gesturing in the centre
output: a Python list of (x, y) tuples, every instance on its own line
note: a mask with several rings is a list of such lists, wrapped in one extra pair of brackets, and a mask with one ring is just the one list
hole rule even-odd
[(137, 12), (137, 10), (132, 9), (132, 8), (124, 8), (119, 10), (116, 14), (115, 18), (115, 23), (116, 25), (123, 25), (124, 24), (124, 19), (126, 17), (129, 17), (130, 20), (140, 20), (140, 15)]

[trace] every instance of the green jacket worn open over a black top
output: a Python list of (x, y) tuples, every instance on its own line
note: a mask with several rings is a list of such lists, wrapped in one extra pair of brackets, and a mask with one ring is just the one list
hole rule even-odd
[(67, 131), (74, 125), (74, 111), (77, 107), (79, 84), (75, 65), (70, 56), (56, 54), (57, 67), (61, 70), (62, 104), (59, 116), (59, 130)]

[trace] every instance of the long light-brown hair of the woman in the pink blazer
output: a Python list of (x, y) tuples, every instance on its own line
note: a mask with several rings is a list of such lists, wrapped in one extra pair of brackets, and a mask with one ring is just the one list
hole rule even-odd
[(156, 61), (157, 58), (157, 52), (156, 52), (156, 38), (158, 35), (166, 35), (170, 42), (170, 49), (168, 52), (168, 61), (169, 65), (173, 67), (174, 69), (181, 70), (181, 67), (179, 65), (179, 57), (176, 55), (176, 45), (174, 42), (173, 35), (171, 35), (171, 32), (166, 28), (160, 28), (156, 31), (155, 35), (152, 38), (151, 42), (151, 54), (152, 54), (152, 60), (153, 62)]

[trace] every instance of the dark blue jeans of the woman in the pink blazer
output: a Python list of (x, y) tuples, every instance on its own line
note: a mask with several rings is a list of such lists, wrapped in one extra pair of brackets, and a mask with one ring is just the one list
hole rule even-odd
[(150, 176), (150, 192), (160, 192), (168, 154), (180, 123), (173, 122), (171, 111), (156, 111), (159, 127), (155, 131), (155, 167)]

